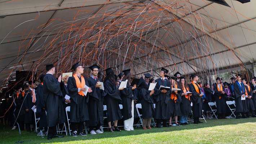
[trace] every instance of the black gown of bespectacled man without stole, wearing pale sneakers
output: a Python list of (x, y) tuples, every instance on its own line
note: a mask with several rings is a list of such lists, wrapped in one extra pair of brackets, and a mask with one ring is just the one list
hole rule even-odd
[(97, 126), (103, 125), (103, 100), (105, 94), (105, 90), (101, 90), (99, 87), (96, 87), (96, 83), (98, 81), (102, 82), (101, 78), (97, 78), (96, 80), (92, 77), (87, 78), (88, 86), (92, 88), (92, 93), (89, 93), (89, 101), (88, 101), (88, 111), (89, 113), (89, 121), (86, 122), (88, 126)]

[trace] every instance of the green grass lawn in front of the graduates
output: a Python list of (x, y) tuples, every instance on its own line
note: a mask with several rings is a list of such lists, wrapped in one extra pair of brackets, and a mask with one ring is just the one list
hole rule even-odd
[(207, 120), (207, 123), (190, 124), (165, 128), (153, 128), (152, 130), (108, 132), (87, 136), (66, 136), (47, 140), (47, 136), (41, 138), (35, 132), (21, 132), (11, 130), (9, 126), (0, 125), (0, 143), (14, 144), (16, 141), (24, 141), (24, 144), (56, 143), (56, 144), (80, 144), (80, 143), (229, 143), (229, 144), (255, 144), (256, 143), (256, 118)]

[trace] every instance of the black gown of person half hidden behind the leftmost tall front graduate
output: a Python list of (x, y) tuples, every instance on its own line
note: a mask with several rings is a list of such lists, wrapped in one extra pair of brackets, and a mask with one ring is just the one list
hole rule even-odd
[(36, 96), (36, 113), (40, 116), (39, 126), (47, 127), (47, 118), (45, 110), (43, 109), (44, 98), (43, 98), (43, 85), (39, 84), (37, 86), (37, 96)]

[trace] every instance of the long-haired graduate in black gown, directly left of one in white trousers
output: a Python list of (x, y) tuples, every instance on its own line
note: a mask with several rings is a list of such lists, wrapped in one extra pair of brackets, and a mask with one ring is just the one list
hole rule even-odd
[[(106, 96), (104, 97), (107, 105), (107, 124), (109, 125), (109, 132), (121, 131), (117, 124), (118, 120), (122, 119), (122, 112), (119, 107), (119, 103), (122, 103), (120, 97), (120, 90), (123, 90), (123, 87), (118, 89), (119, 83), (116, 82), (114, 71), (112, 68), (107, 68), (106, 78), (104, 80), (104, 89), (106, 91)], [(114, 121), (114, 130), (111, 128), (111, 122)]]

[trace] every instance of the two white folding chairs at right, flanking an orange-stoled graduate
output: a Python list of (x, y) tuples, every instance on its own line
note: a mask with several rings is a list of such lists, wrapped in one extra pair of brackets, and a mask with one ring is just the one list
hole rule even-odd
[[(230, 111), (231, 111), (231, 114), (230, 114), (230, 116), (229, 116), (229, 118), (231, 117), (231, 116), (234, 116), (235, 117), (235, 108), (232, 108), (232, 105), (233, 105), (233, 107), (235, 107), (235, 101), (233, 100), (233, 101), (226, 101), (226, 104), (228, 105), (228, 107), (229, 107), (229, 109), (230, 109)], [(211, 116), (211, 118), (213, 118), (213, 116), (215, 116), (215, 118), (216, 119), (218, 119), (217, 118), (217, 116), (216, 116), (216, 112), (217, 112), (217, 105), (216, 105), (216, 102), (209, 102), (208, 103), (208, 105), (209, 105), (209, 107), (211, 108), (211, 111), (212, 111), (212, 116)]]

